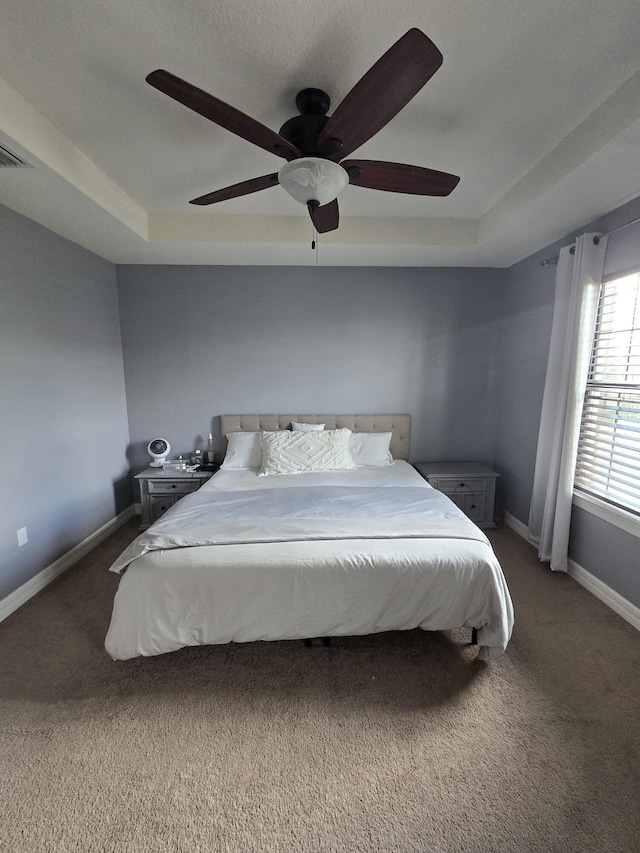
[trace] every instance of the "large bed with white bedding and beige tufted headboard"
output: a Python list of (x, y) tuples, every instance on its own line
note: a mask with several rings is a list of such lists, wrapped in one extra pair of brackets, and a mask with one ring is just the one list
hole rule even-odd
[[(111, 567), (122, 575), (111, 657), (417, 627), (473, 629), (478, 657), (499, 657), (513, 626), (502, 569), (485, 534), (408, 463), (409, 416), (221, 417), (234, 448), (261, 439), (264, 459), (267, 439), (291, 443), (292, 423), (324, 424), (327, 435), (305, 432), (298, 444), (335, 435), (357, 467), (264, 476), (230, 446), (225, 465)], [(388, 458), (371, 455), (385, 435)]]

